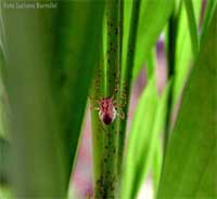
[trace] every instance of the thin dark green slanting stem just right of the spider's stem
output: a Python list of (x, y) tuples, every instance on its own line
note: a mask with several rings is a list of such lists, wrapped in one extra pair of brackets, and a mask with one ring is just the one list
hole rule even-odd
[(130, 88), (131, 88), (132, 68), (135, 62), (135, 50), (136, 50), (136, 39), (137, 39), (138, 23), (139, 23), (140, 4), (141, 0), (135, 0), (132, 4), (130, 32), (129, 32), (128, 50), (127, 50), (127, 62), (120, 89), (120, 95), (125, 96), (124, 98), (126, 101), (126, 106), (123, 108), (123, 111), (125, 112), (126, 116), (125, 119), (119, 123), (119, 130), (118, 130), (119, 131), (118, 175), (122, 174), (122, 169), (123, 169), (123, 155), (124, 155), (124, 146), (126, 137), (127, 112), (130, 98)]

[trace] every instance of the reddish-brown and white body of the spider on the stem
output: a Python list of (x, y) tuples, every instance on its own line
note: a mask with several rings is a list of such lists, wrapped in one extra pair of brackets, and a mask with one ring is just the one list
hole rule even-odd
[(113, 97), (105, 97), (99, 101), (99, 117), (100, 120), (105, 124), (108, 125), (111, 124), (116, 116), (117, 111), (114, 106)]

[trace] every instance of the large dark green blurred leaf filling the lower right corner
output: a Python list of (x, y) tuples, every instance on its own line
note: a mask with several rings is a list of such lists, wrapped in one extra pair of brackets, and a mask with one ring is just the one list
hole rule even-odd
[(217, 9), (183, 93), (165, 156), (158, 198), (216, 198)]

